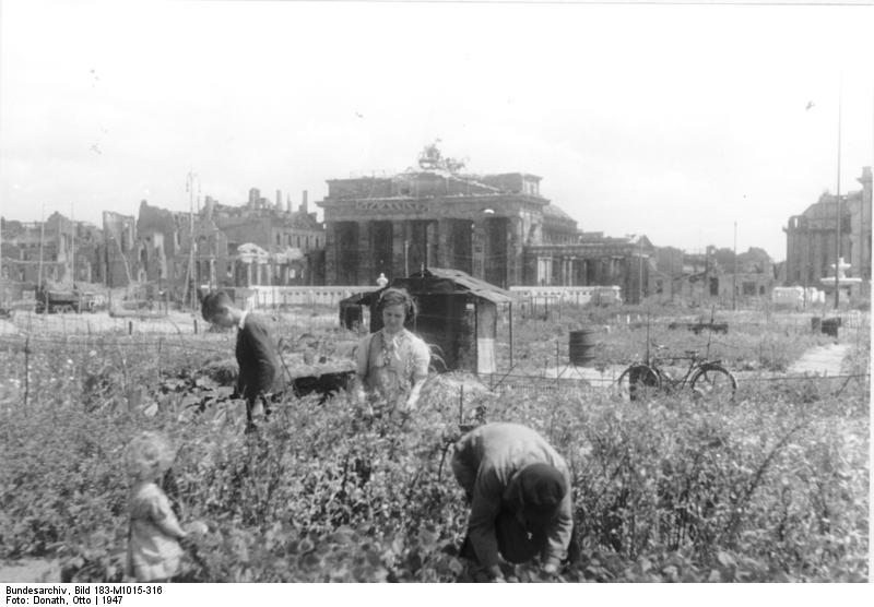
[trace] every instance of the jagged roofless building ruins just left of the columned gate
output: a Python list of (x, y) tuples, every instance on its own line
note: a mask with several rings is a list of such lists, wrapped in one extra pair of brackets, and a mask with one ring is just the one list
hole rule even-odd
[[(276, 192), (281, 200), (281, 192)], [(196, 287), (306, 285), (321, 281), (324, 231), (309, 213), (272, 204), (257, 189), (240, 206), (211, 197), (197, 213), (140, 203), (137, 219), (104, 213), (109, 286), (149, 283), (181, 298)], [(192, 247), (193, 242), (193, 247)]]

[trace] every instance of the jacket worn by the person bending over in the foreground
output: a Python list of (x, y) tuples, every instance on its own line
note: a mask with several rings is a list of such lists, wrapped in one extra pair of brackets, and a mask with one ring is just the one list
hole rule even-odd
[(495, 519), (501, 510), (523, 510), (517, 483), (519, 471), (530, 464), (550, 464), (565, 478), (565, 497), (548, 524), (544, 562), (558, 563), (567, 556), (574, 520), (570, 471), (565, 460), (531, 428), (518, 424), (486, 424), (456, 443), (452, 472), (471, 498), (469, 537), (480, 564), (498, 562)]

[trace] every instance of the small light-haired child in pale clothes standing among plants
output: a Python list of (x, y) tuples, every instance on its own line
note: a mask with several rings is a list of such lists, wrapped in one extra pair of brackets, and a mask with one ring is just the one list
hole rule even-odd
[(168, 582), (182, 573), (179, 540), (188, 536), (158, 485), (173, 464), (173, 448), (163, 436), (142, 432), (125, 459), (132, 481), (125, 574), (138, 582)]

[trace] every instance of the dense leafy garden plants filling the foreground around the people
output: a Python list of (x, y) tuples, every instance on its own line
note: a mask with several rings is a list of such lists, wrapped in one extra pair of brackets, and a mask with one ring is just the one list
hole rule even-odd
[[(531, 323), (516, 338), (541, 330)], [(743, 338), (748, 355), (756, 342)], [(787, 352), (808, 343), (759, 336), (769, 340)], [(165, 485), (180, 519), (210, 527), (193, 580), (468, 581), (456, 557), (466, 512), (444, 440), (461, 404), (461, 421), (528, 424), (570, 463), (583, 558), (560, 572), (566, 581), (869, 578), (867, 380), (838, 395), (814, 380), (763, 384), (733, 405), (702, 406), (676, 395), (494, 394), (440, 377), (408, 419), (365, 419), (344, 394), (290, 398), (244, 437), (241, 405), (196, 372), (214, 353), (165, 344), (156, 356), (135, 338), (117, 342), (32, 343), (26, 380), (23, 343), (3, 342), (0, 559), (52, 557), (68, 581), (120, 580), (121, 452), (155, 429), (179, 447)], [(866, 341), (853, 352), (853, 369), (870, 359)], [(513, 574), (545, 580), (531, 567)]]

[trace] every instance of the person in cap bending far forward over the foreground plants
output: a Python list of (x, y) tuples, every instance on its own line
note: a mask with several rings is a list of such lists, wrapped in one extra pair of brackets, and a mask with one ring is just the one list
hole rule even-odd
[(461, 556), (476, 578), (503, 582), (499, 557), (540, 555), (545, 572), (558, 571), (574, 536), (570, 472), (543, 437), (519, 424), (480, 426), (456, 443), (452, 473), (471, 505)]

